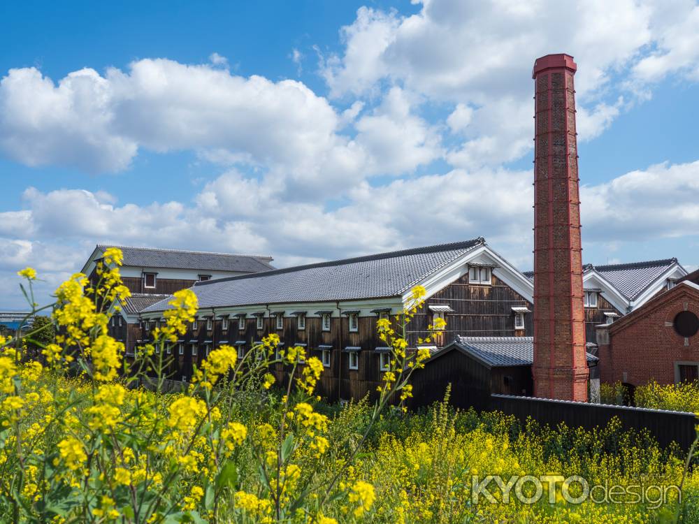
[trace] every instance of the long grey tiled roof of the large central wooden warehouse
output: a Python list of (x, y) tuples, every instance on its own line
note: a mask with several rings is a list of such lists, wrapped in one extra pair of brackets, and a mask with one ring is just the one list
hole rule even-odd
[[(299, 265), (254, 275), (197, 282), (199, 307), (327, 302), (401, 296), (427, 275), (474, 247), (483, 238), (333, 262)], [(146, 311), (167, 309), (167, 301)]]

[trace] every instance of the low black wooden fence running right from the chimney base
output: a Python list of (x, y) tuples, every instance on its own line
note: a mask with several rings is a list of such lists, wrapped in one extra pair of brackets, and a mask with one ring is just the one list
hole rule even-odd
[(489, 410), (514, 415), (523, 422), (531, 416), (540, 424), (556, 426), (563, 422), (569, 427), (588, 430), (603, 428), (616, 416), (625, 430), (648, 430), (661, 446), (677, 442), (684, 450), (690, 448), (696, 437), (697, 419), (693, 413), (670, 412), (663, 409), (491, 395)]

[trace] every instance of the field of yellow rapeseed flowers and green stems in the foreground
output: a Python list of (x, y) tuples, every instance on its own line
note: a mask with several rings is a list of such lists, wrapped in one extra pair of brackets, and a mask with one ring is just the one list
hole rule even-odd
[[(57, 289), (59, 335), (41, 362), (23, 355), (32, 333), (0, 340), (0, 522), (699, 522), (699, 475), (643, 433), (522, 426), (447, 402), (404, 412), (426, 358), (402, 336), (421, 289), (379, 326), (393, 358), (374, 405), (322, 403), (322, 365), (300, 347), (280, 351), (290, 378), (274, 384), (273, 335), (243, 361), (215, 349), (185, 391), (166, 393), (164, 347), (194, 319), (196, 296), (176, 293), (155, 342), (127, 363), (106, 329), (129, 293), (120, 261), (110, 249), (96, 285), (73, 275)], [(36, 272), (20, 275), (35, 308)], [(595, 502), (580, 480), (564, 490), (570, 478), (622, 494)], [(647, 489), (680, 484), (682, 504), (678, 490)]]

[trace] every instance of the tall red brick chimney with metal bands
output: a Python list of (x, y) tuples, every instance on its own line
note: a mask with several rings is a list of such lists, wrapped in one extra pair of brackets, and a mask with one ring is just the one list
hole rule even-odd
[(587, 401), (575, 132), (577, 66), (568, 54), (534, 62), (534, 395)]

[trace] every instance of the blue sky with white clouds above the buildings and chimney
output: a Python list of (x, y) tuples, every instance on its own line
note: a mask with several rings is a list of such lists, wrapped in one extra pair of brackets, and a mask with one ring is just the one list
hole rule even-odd
[(25, 2), (0, 16), (0, 308), (97, 242), (278, 265), (484, 236), (531, 267), (531, 66), (576, 75), (584, 259), (699, 265), (699, 7)]

